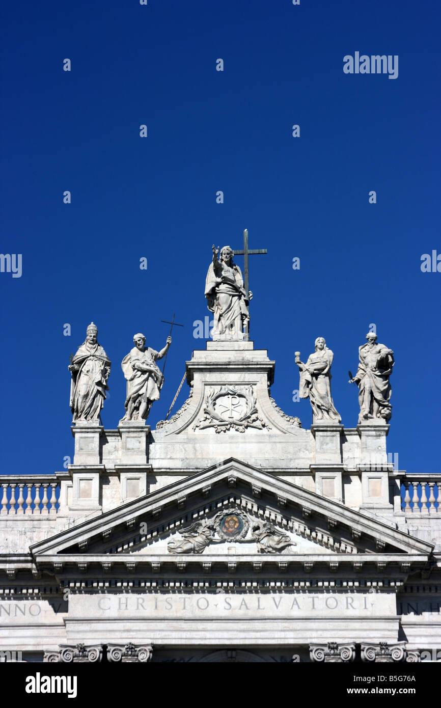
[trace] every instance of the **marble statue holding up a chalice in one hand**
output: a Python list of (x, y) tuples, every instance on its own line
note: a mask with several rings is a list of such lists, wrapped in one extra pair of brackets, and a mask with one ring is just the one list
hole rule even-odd
[(312, 422), (335, 421), (341, 418), (333, 404), (331, 396), (331, 364), (333, 353), (326, 346), (323, 337), (317, 337), (314, 343), (315, 351), (309, 355), (304, 364), (300, 360), (300, 352), (295, 353), (295, 362), (300, 371), (300, 398), (309, 398), (312, 407)]

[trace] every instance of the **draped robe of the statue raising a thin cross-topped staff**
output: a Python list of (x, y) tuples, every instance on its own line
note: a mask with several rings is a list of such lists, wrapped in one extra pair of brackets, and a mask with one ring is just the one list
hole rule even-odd
[[(159, 392), (161, 391), (164, 377), (156, 364), (156, 360), (160, 359), (159, 352), (150, 347), (145, 347), (144, 351), (139, 351), (134, 347), (125, 356), (121, 362), (122, 371), (127, 379), (127, 397), (125, 400), (125, 409), (132, 396), (137, 399), (137, 408), (141, 401), (159, 401)], [(134, 363), (139, 362), (144, 366), (148, 366), (151, 371), (139, 371), (134, 368)]]

